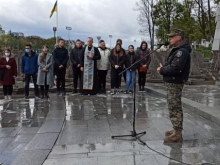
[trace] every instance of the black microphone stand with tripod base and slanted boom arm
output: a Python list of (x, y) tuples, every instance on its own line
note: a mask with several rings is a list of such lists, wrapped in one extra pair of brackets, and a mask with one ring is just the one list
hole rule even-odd
[[(164, 44), (165, 45), (165, 44)], [(162, 46), (162, 45), (161, 45)], [(139, 59), (138, 61), (136, 61), (134, 64), (132, 64), (130, 67), (126, 68), (124, 71), (122, 71), (119, 75), (122, 75), (124, 72), (126, 72), (127, 70), (129, 70), (130, 68), (132, 68), (134, 65), (138, 64), (139, 62), (141, 62), (144, 58), (150, 56), (151, 54), (153, 54), (154, 52), (156, 52), (157, 50), (159, 50), (161, 48), (161, 46), (157, 49), (155, 49), (154, 51), (152, 51), (151, 53), (145, 55), (144, 57), (142, 57), (141, 59)], [(146, 143), (141, 140), (140, 138), (142, 136), (144, 136), (146, 134), (146, 131), (145, 132), (141, 132), (141, 133), (137, 133), (136, 132), (136, 128), (135, 128), (135, 123), (136, 123), (136, 80), (135, 80), (135, 83), (134, 83), (134, 92), (133, 92), (133, 130), (131, 131), (131, 134), (130, 135), (119, 135), (119, 136), (112, 136), (112, 139), (115, 139), (115, 138), (122, 138), (122, 137), (133, 137), (135, 138), (137, 141), (139, 141), (142, 145), (146, 145)]]

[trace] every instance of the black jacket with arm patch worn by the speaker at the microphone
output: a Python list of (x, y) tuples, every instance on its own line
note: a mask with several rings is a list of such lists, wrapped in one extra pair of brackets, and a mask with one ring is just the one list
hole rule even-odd
[(160, 74), (167, 83), (183, 84), (188, 81), (190, 73), (190, 45), (184, 41), (175, 47), (169, 54), (166, 64), (161, 68)]

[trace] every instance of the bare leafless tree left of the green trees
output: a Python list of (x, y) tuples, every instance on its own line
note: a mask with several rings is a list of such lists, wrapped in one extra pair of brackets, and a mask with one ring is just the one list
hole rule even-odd
[(140, 33), (143, 35), (149, 35), (151, 50), (154, 49), (155, 38), (155, 19), (153, 16), (154, 5), (158, 0), (140, 0), (136, 2), (136, 11), (139, 11), (138, 22), (141, 25)]

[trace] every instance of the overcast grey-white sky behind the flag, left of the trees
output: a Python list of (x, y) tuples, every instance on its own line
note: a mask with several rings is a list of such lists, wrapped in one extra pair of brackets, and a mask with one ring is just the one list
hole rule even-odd
[[(8, 32), (23, 32), (25, 36), (53, 36), (56, 13), (50, 19), (55, 0), (0, 0), (0, 24)], [(139, 33), (136, 0), (59, 0), (59, 36), (67, 39), (66, 26), (72, 27), (72, 40), (86, 40), (101, 36), (109, 46), (109, 34), (113, 35), (112, 46), (117, 38), (123, 40), (123, 47), (136, 46), (144, 36)]]

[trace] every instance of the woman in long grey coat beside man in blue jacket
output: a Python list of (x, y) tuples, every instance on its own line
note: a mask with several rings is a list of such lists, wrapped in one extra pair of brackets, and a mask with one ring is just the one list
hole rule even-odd
[(41, 98), (49, 98), (49, 87), (53, 86), (53, 56), (48, 53), (49, 47), (44, 45), (42, 53), (38, 56), (37, 85), (40, 85)]

